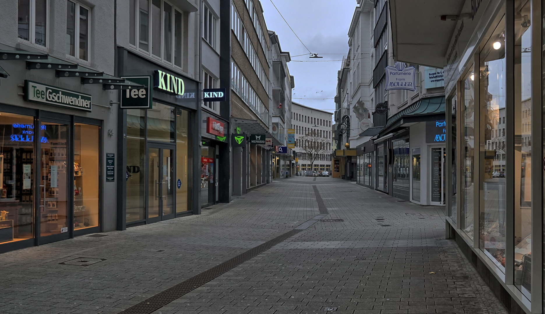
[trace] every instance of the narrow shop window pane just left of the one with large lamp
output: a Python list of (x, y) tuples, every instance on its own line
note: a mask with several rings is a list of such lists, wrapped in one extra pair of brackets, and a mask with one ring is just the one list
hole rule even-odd
[(473, 238), (473, 199), (474, 199), (474, 121), (475, 121), (475, 89), (474, 89), (475, 76), (473, 69), (469, 71), (468, 75), (463, 81), (463, 103), (464, 103), (464, 115), (462, 116), (462, 125), (464, 126), (464, 141), (462, 149), (464, 150), (464, 186), (462, 189), (463, 206), (462, 206), (462, 230), (470, 237)]

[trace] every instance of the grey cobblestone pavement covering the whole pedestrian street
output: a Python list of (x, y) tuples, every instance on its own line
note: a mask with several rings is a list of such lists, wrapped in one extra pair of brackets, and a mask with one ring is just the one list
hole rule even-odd
[(322, 219), (343, 221), (318, 221), (153, 313), (506, 313), (444, 239), (440, 207), (330, 177), (274, 181), (199, 216), (1, 254), (0, 312), (119, 313), (316, 217), (313, 186), (329, 211)]

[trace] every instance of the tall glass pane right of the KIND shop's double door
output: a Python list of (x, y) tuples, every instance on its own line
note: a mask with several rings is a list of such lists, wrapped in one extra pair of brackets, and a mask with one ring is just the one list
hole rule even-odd
[(191, 209), (191, 114), (186, 110), (176, 109), (176, 212), (186, 212)]

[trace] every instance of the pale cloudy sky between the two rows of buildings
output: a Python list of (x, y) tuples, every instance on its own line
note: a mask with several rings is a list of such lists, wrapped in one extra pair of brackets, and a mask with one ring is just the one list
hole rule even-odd
[[(341, 60), (348, 52), (348, 27), (352, 21), (356, 1), (272, 0), (272, 2), (305, 46), (312, 53), (324, 57), (309, 59), (308, 51), (282, 20), (271, 0), (261, 0), (268, 29), (276, 32), (282, 50), (289, 51), (292, 56), (292, 61), (288, 63), (289, 72), (295, 77), (292, 100), (313, 108), (335, 109), (333, 99), (312, 98), (335, 97), (337, 71), (341, 68), (341, 61), (326, 60)], [(305, 55), (295, 57), (299, 54)]]

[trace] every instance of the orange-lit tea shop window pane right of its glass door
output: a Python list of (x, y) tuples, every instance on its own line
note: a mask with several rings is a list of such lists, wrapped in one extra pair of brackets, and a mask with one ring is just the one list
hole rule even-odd
[(99, 127), (74, 125), (74, 230), (99, 225)]

